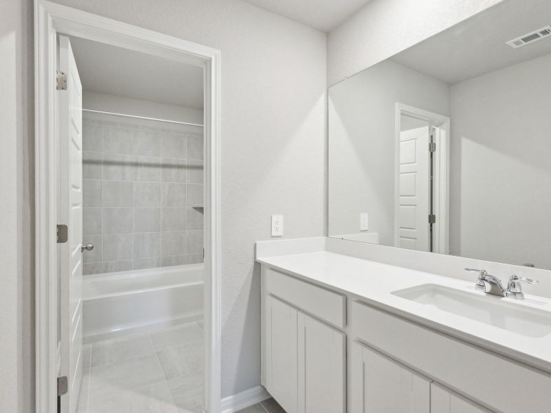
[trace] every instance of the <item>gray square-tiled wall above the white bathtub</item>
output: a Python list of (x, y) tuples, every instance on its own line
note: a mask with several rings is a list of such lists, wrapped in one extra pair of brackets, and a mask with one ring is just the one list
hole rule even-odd
[(83, 119), (83, 273), (202, 262), (202, 134)]

